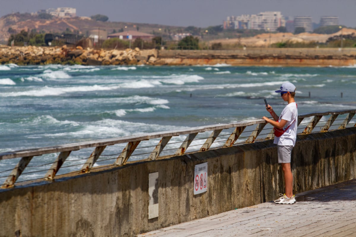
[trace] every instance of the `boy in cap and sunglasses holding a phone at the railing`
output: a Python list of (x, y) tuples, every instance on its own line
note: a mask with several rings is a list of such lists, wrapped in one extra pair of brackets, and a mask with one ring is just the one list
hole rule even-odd
[(282, 99), (288, 102), (287, 106), (284, 107), (281, 116), (278, 117), (268, 104), (266, 109), (274, 120), (263, 117), (267, 123), (272, 124), (275, 128), (285, 130), (281, 136), (275, 136), (273, 142), (277, 144), (278, 163), (282, 165), (284, 183), (286, 184), (284, 195), (279, 194), (281, 197), (274, 200), (274, 203), (293, 204), (295, 203), (295, 198), (293, 195), (293, 174), (290, 168), (290, 155), (295, 145), (295, 140), (297, 140), (298, 109), (294, 100), (295, 86), (290, 82), (286, 82), (276, 92), (281, 93)]

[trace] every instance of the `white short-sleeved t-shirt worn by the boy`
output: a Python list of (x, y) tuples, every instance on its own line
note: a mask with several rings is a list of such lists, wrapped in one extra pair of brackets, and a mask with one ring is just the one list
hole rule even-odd
[(297, 140), (297, 123), (298, 123), (298, 109), (297, 103), (289, 103), (284, 107), (281, 116), (279, 116), (278, 122), (281, 122), (281, 119), (287, 120), (287, 124), (284, 126), (285, 130), (290, 124), (290, 127), (285, 131), (280, 137), (274, 137), (274, 144), (281, 146), (294, 146), (295, 140)]

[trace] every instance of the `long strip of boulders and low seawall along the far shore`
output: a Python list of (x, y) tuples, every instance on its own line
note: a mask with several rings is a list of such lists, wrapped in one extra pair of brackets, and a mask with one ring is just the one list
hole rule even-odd
[(249, 48), (235, 50), (83, 49), (82, 47), (0, 48), (0, 64), (46, 65), (218, 65), (354, 66), (356, 48)]

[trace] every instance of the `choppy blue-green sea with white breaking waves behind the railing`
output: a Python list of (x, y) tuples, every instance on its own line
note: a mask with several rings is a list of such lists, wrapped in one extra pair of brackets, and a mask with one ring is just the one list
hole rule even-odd
[(0, 65), (0, 153), (258, 119), (284, 82), (299, 114), (356, 109), (356, 65)]

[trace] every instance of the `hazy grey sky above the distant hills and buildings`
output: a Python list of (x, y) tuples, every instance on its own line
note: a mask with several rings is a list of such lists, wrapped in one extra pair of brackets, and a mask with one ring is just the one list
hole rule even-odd
[(77, 16), (171, 26), (216, 26), (227, 16), (281, 11), (292, 19), (312, 16), (315, 23), (320, 16), (339, 16), (340, 25), (356, 27), (356, 0), (0, 0), (0, 16), (57, 7), (74, 7)]

